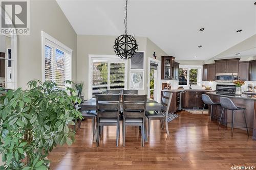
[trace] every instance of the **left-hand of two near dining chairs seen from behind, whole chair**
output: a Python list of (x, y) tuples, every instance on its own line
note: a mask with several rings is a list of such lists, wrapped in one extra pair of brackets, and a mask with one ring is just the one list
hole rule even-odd
[(120, 133), (120, 99), (121, 95), (96, 95), (97, 105), (97, 147), (103, 126), (116, 126), (116, 147), (119, 143)]

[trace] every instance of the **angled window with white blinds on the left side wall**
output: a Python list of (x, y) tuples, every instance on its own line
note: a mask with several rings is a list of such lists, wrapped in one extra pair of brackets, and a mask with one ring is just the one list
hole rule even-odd
[(42, 42), (42, 81), (54, 81), (57, 88), (65, 89), (65, 80), (71, 80), (72, 50), (44, 32)]

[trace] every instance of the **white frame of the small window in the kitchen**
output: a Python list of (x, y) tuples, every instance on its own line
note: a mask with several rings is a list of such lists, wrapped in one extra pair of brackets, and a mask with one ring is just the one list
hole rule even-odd
[(180, 65), (180, 68), (187, 68), (187, 85), (179, 85), (179, 80), (178, 80), (178, 86), (189, 86), (189, 70), (190, 69), (198, 69), (197, 72), (197, 84), (191, 84), (191, 86), (201, 86), (203, 77), (202, 77), (202, 70), (203, 70), (203, 66), (201, 65)]

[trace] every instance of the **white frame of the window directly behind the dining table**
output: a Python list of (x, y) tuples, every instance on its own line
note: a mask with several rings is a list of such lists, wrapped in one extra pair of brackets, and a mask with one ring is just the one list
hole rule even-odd
[[(127, 60), (122, 60), (118, 58), (115, 55), (89, 55), (88, 56), (88, 73), (89, 73), (89, 81), (88, 81), (88, 96), (89, 99), (92, 98), (92, 66), (93, 66), (93, 61), (94, 60), (99, 60), (99, 61), (106, 61), (106, 62), (123, 62), (124, 63), (124, 89), (127, 89), (127, 78), (128, 78), (128, 62)], [(108, 69), (110, 69), (108, 67)], [(108, 71), (108, 74), (110, 75), (110, 71)], [(110, 76), (108, 76), (108, 79), (110, 79)], [(109, 80), (108, 80), (109, 81)], [(109, 88), (109, 85), (108, 85)]]

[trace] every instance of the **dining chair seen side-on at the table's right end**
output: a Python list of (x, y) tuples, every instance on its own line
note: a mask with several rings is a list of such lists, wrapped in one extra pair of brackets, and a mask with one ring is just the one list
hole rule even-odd
[(165, 122), (166, 133), (169, 136), (168, 112), (170, 108), (170, 102), (172, 101), (172, 96), (173, 96), (173, 93), (164, 91), (162, 101), (161, 101), (161, 104), (163, 105), (161, 110), (146, 112), (146, 117), (148, 118), (148, 124), (147, 124), (148, 137), (150, 137), (151, 120), (160, 120), (162, 129), (163, 129), (163, 122)]

